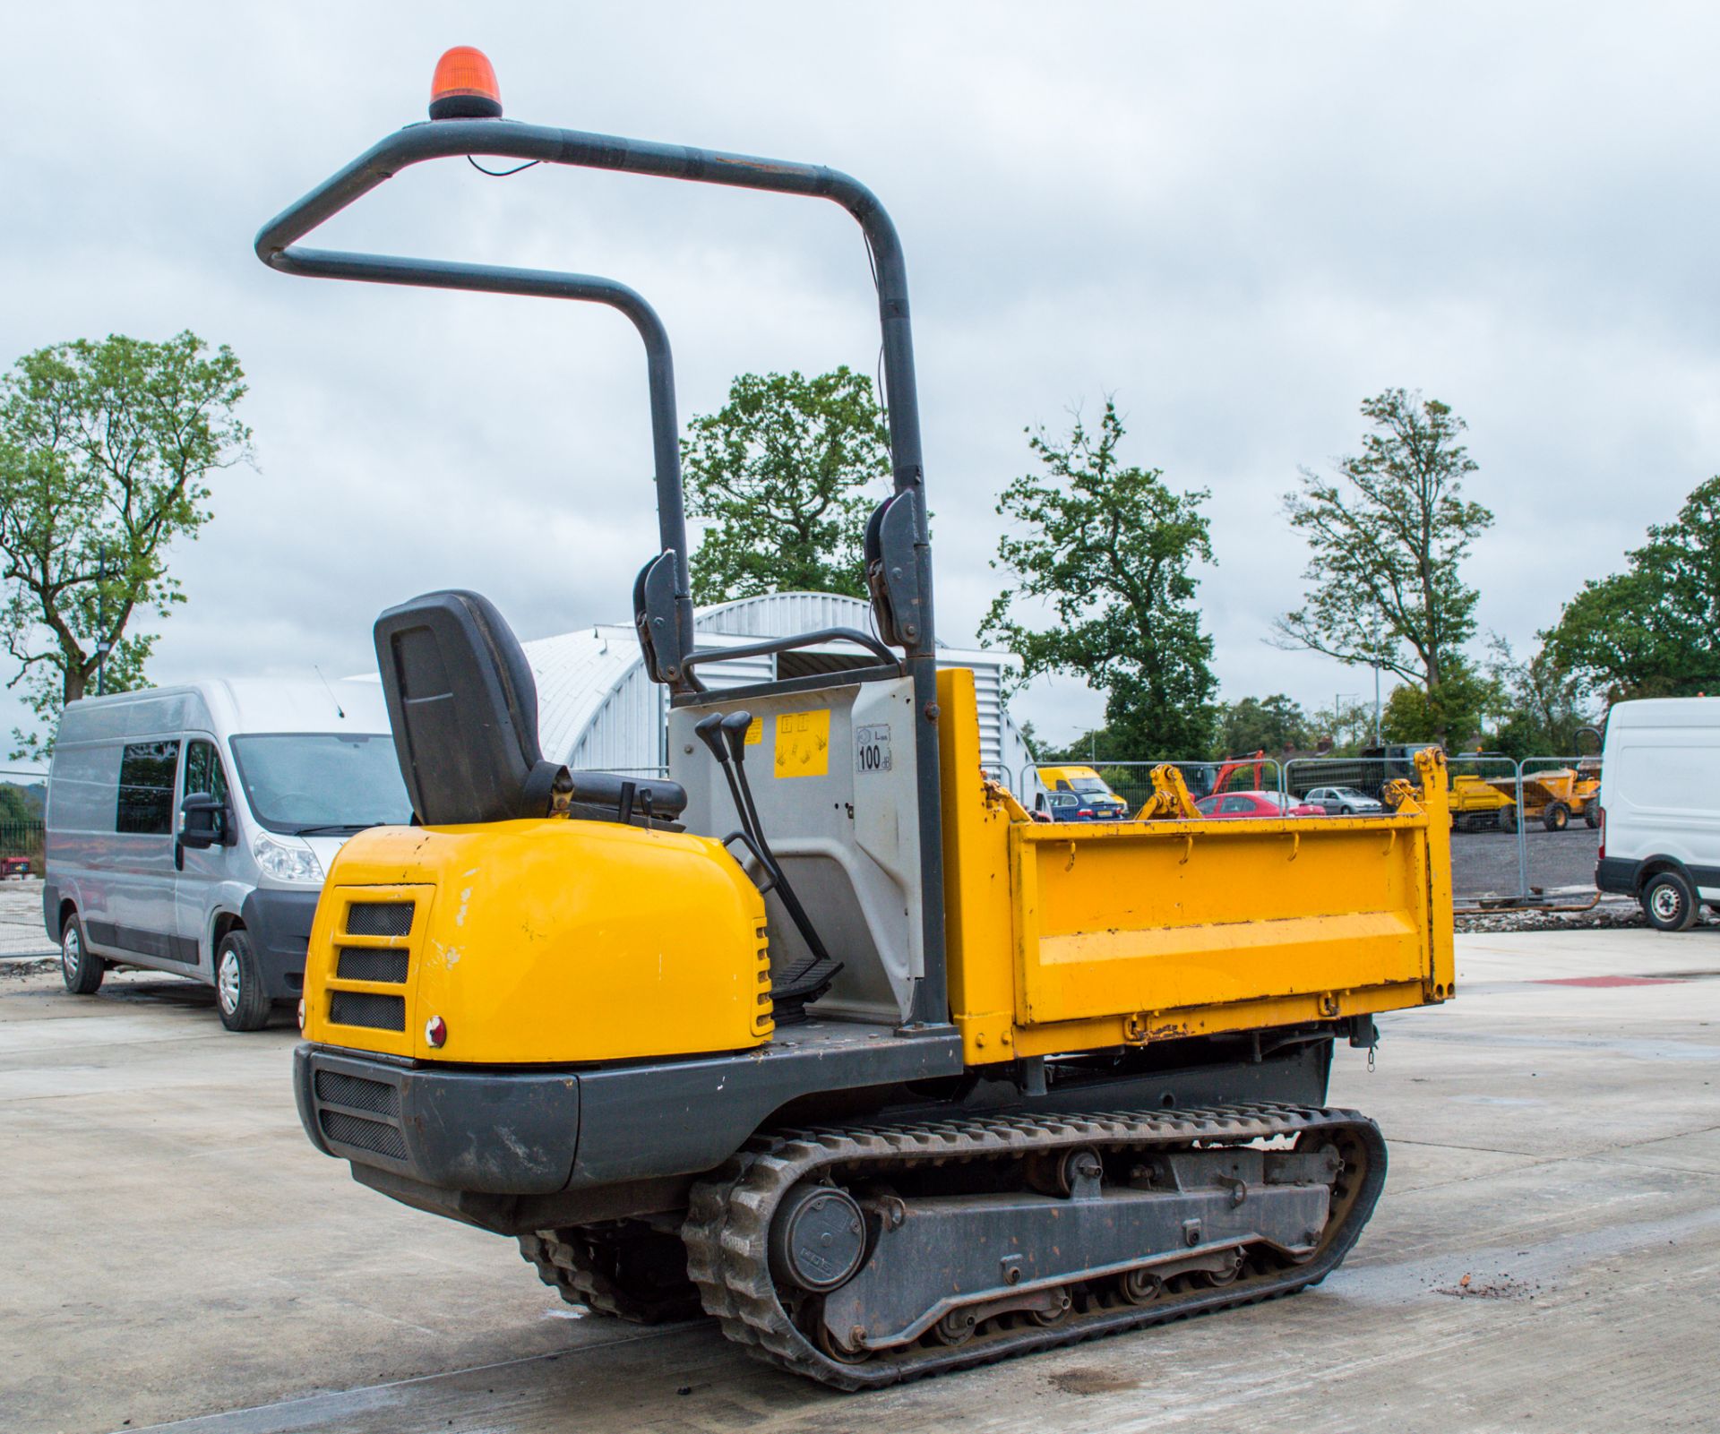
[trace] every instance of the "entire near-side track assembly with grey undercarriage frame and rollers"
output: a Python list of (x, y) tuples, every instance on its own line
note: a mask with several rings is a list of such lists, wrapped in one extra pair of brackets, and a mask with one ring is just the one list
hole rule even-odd
[(1316, 1284), (1383, 1185), (1348, 1111), (1011, 1114), (762, 1137), (681, 1235), (724, 1334), (863, 1389)]

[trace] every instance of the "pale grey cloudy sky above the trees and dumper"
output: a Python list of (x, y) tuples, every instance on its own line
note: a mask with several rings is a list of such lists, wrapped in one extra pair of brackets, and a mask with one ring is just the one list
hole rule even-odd
[[(1371, 688), (1264, 643), (1302, 591), (1299, 464), (1357, 402), (1469, 420), (1481, 622), (1531, 641), (1720, 469), (1705, 5), (9, 5), (0, 361), (193, 328), (251, 380), (258, 471), (175, 554), (157, 681), (347, 672), (437, 586), (525, 638), (626, 617), (654, 543), (643, 365), (614, 315), (292, 280), (256, 229), (423, 117), (478, 45), (509, 115), (829, 163), (891, 208), (915, 301), (943, 633), (994, 591), (1023, 425), (1115, 392), (1127, 457), (1213, 490), (1228, 698)], [(870, 368), (831, 205), (420, 167), (330, 244), (609, 273), (676, 344), (683, 416), (743, 370)], [(10, 674), (7, 674), (10, 676)], [(1097, 719), (1078, 681), (1018, 715)], [(0, 708), (0, 729), (15, 720)]]

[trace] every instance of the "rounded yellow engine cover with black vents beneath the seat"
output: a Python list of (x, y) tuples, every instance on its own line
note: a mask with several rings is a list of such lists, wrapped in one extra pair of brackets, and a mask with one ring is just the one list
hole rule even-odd
[(308, 1040), (427, 1061), (685, 1056), (771, 1030), (746, 873), (709, 837), (614, 822), (359, 832), (304, 963)]

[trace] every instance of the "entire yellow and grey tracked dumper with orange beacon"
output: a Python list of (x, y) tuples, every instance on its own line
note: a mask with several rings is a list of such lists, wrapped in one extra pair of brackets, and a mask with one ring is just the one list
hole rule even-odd
[[(516, 1238), (571, 1302), (703, 1310), (843, 1389), (1323, 1279), (1386, 1171), (1374, 1123), (1324, 1104), (1333, 1047), (1453, 994), (1438, 753), (1383, 817), (1030, 820), (982, 774), (972, 672), (936, 664), (906, 275), (877, 199), (827, 169), (499, 115), (488, 64), (451, 52), (432, 122), (268, 224), (258, 254), (635, 323), (660, 530), (635, 612), (669, 772), (547, 760), (531, 671), (475, 593), (378, 619), (418, 825), (354, 836), (329, 872), (294, 1076), (311, 1142), (384, 1195)], [(867, 531), (875, 633), (697, 648), (669, 346), (635, 291), (299, 242), (449, 156), (858, 220), (894, 463)], [(838, 641), (838, 671), (700, 679)]]

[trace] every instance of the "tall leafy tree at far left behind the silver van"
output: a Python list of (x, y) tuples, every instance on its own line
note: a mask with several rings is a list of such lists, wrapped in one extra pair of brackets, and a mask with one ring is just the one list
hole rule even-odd
[[(0, 628), (9, 686), (43, 722), (89, 691), (103, 650), (108, 691), (144, 686), (155, 634), (132, 619), (184, 602), (167, 548), (210, 519), (210, 473), (249, 456), (244, 373), (206, 351), (194, 334), (79, 339), (0, 378)], [(14, 758), (52, 746), (14, 738)]]

